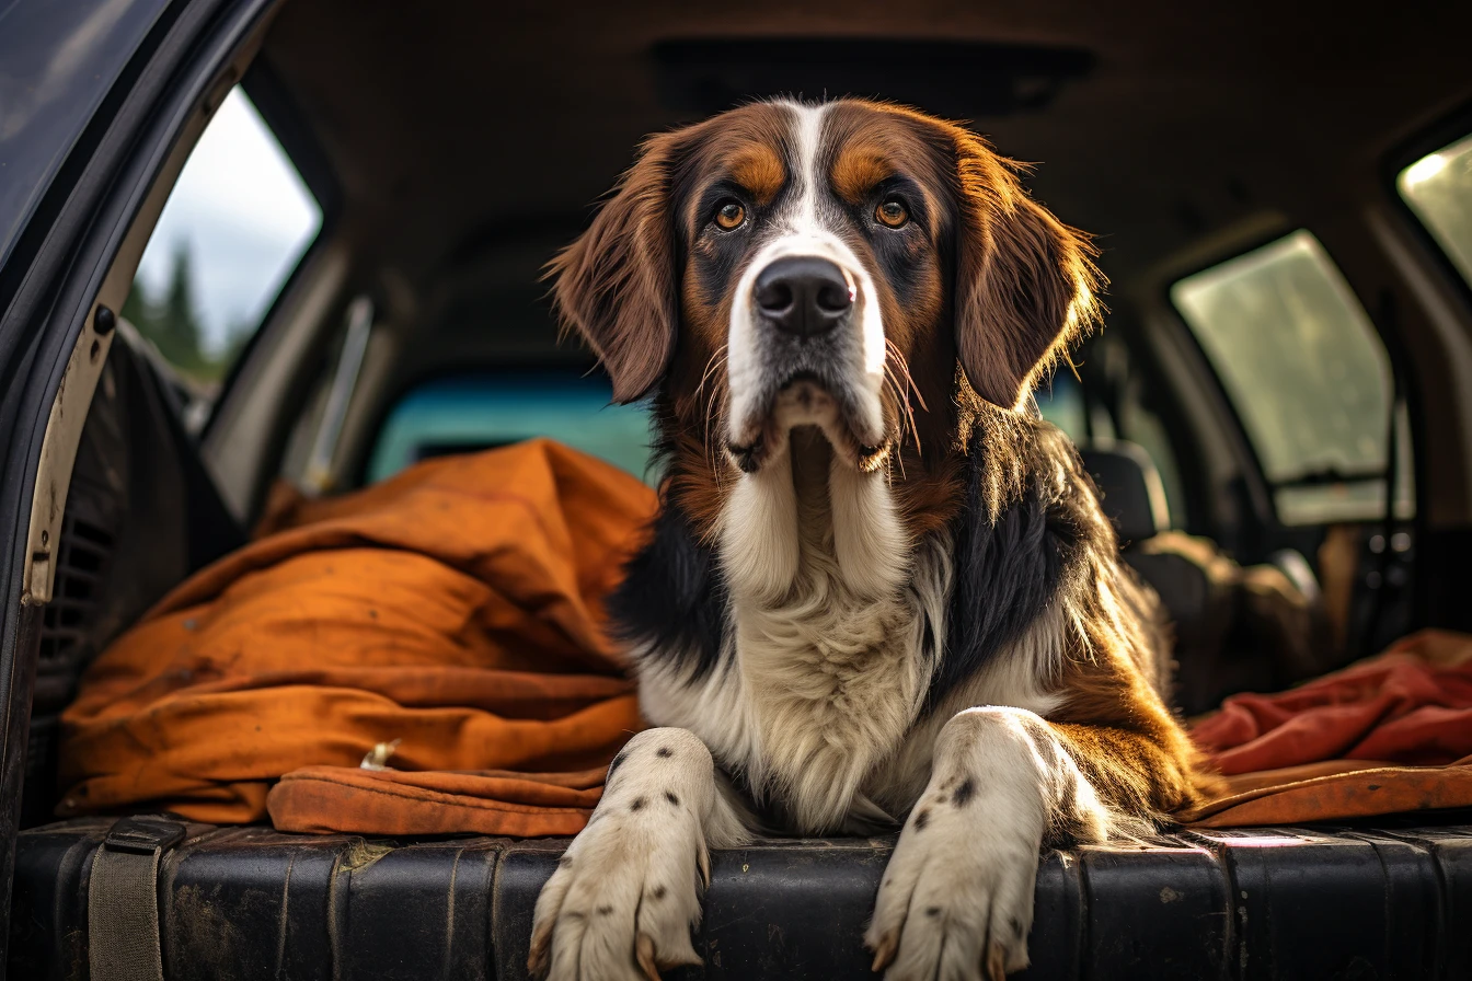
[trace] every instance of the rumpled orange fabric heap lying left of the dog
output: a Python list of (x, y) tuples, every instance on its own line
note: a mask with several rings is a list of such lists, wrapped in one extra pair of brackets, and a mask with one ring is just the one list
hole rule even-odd
[[(271, 785), (306, 768), (291, 782), (336, 774), (352, 793), (274, 794), (283, 830), (369, 831), (364, 788), (397, 784), (383, 832), (576, 831), (596, 802), (586, 771), (640, 728), (601, 600), (654, 510), (637, 479), (546, 440), (278, 509), (280, 531), (87, 671), (62, 719), (59, 812), (262, 821)], [(393, 771), (342, 777), (393, 740)], [(459, 810), (478, 816), (453, 828), (442, 797), (468, 778), (425, 771), (526, 772), (478, 777)]]

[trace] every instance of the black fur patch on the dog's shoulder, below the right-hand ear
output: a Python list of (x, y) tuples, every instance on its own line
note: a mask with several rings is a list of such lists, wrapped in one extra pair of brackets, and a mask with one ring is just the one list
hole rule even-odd
[[(1064, 460), (1060, 479), (1057, 462)], [(955, 579), (945, 656), (930, 678), (927, 709), (1020, 638), (1082, 566), (1092, 541), (1092, 497), (1078, 452), (1041, 421), (972, 432), (966, 506), (954, 529)], [(988, 518), (988, 487), (1022, 474), (1020, 494)], [(1005, 479), (995, 481), (1007, 484)]]

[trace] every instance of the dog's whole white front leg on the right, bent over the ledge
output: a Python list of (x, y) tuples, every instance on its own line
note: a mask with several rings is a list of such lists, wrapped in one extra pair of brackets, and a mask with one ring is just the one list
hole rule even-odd
[(1058, 735), (1025, 709), (958, 713), (885, 869), (864, 937), (886, 981), (991, 978), (1027, 966), (1050, 828), (1108, 832), (1108, 810)]

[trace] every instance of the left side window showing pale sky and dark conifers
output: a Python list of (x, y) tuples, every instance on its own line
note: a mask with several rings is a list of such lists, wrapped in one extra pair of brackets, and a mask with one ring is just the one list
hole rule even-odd
[(208, 406), (322, 225), (322, 210), (237, 87), (149, 238), (122, 315)]

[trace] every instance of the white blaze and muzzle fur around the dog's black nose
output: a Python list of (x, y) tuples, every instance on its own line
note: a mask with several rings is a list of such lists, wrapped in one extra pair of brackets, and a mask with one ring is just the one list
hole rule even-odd
[[(780, 365), (764, 363), (760, 354), (757, 332), (762, 328), (758, 325), (754, 303), (757, 277), (777, 259), (811, 256), (835, 263), (849, 284), (854, 312), (849, 322), (839, 329), (852, 331), (855, 337), (851, 340), (857, 343), (835, 346), (843, 354), (841, 363), (833, 368), (843, 378), (846, 388), (857, 396), (855, 418), (849, 419), (855, 434), (866, 440), (877, 440), (885, 429), (879, 402), (885, 381), (883, 316), (873, 274), (863, 268), (854, 250), (830, 226), (830, 222), (841, 221), (841, 212), (830, 197), (827, 175), (821, 172), (823, 115), (827, 106), (785, 104), (792, 116), (793, 151), (789, 159), (792, 168), (789, 179), (793, 185), (785, 197), (782, 210), (773, 219), (771, 237), (757, 252), (736, 284), (727, 346), (732, 393), (729, 435), (732, 443), (749, 438), (754, 427), (762, 422), (760, 416), (768, 410), (768, 406), (760, 402), (770, 394), (770, 382), (774, 379), (765, 378), (764, 372), (782, 371)], [(780, 422), (801, 425), (821, 419), (807, 419), (798, 409), (790, 412), (785, 409)]]

